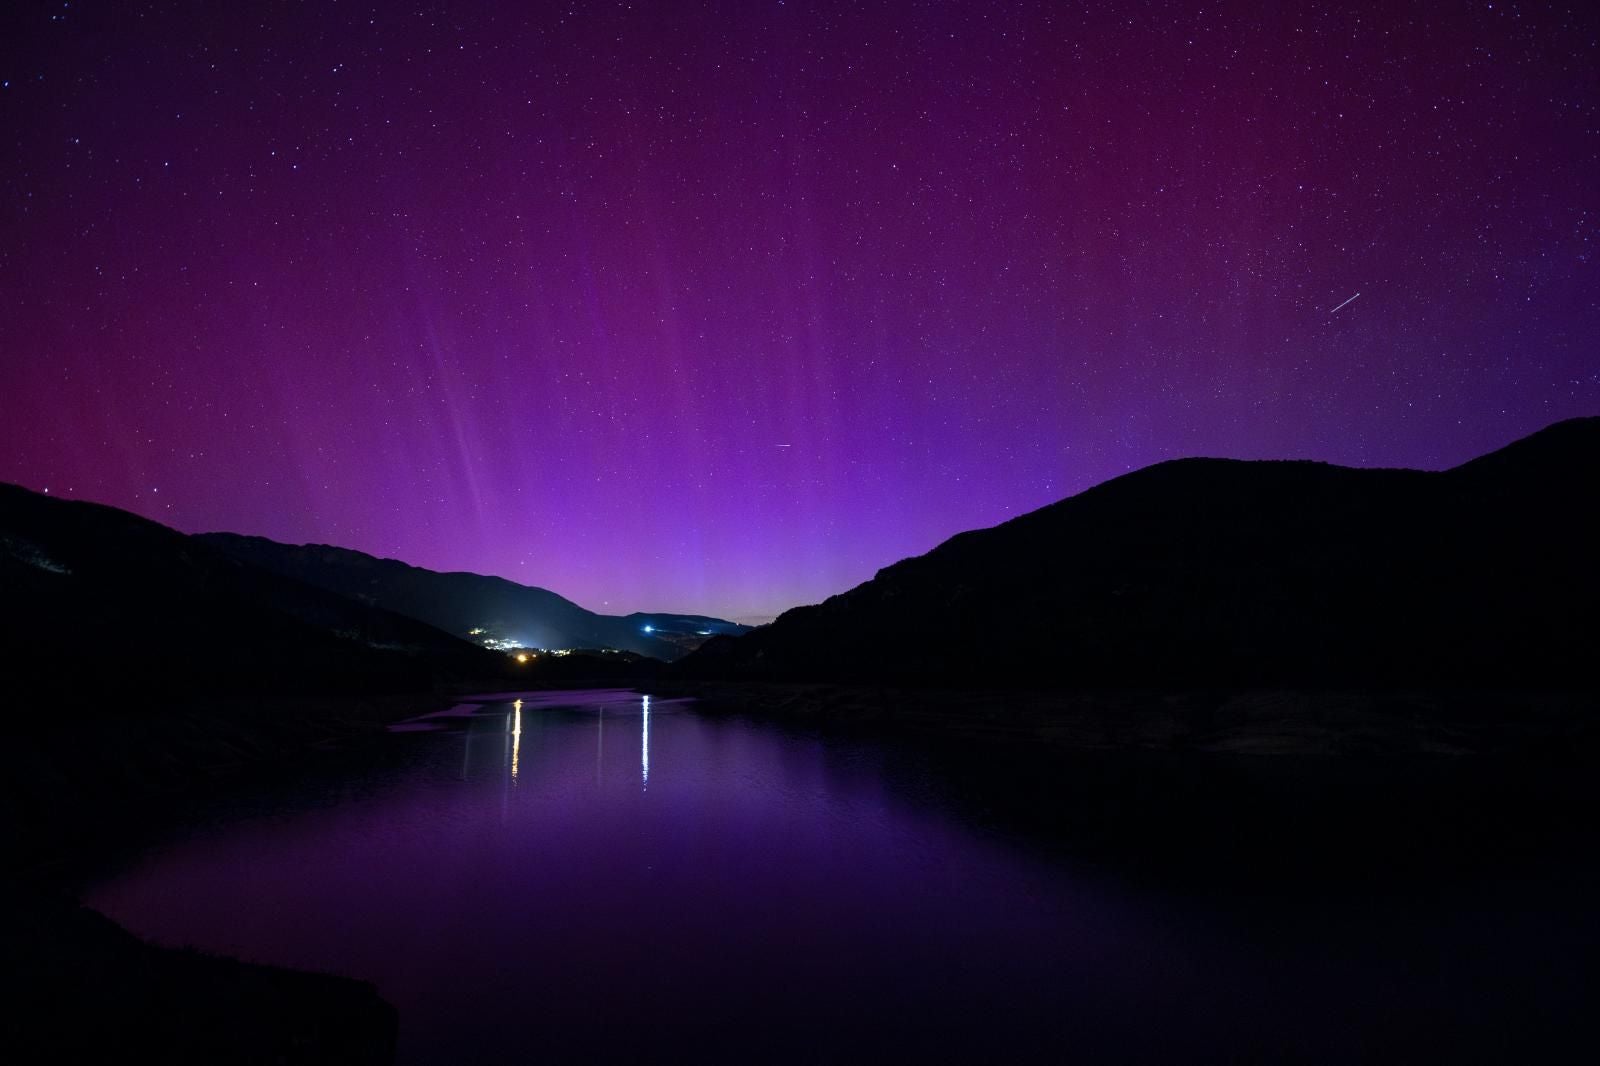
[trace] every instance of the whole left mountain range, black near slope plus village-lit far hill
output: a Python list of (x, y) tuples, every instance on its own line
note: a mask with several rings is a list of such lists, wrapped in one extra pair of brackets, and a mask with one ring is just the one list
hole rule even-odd
[(675, 659), (746, 629), (694, 615), (595, 615), (544, 589), (339, 547), (186, 536), (5, 483), (0, 591), (0, 682), (11, 693), (91, 677), (112, 701), (240, 683), (262, 695), (419, 691), (504, 674), (507, 656), (482, 647), (496, 637)]

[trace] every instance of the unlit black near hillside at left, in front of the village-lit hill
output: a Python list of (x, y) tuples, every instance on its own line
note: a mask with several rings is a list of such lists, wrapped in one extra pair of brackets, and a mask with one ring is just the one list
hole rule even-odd
[(242, 563), (93, 503), (0, 483), (8, 693), (98, 690), (104, 706), (197, 693), (413, 691), (504, 671), (434, 626)]

